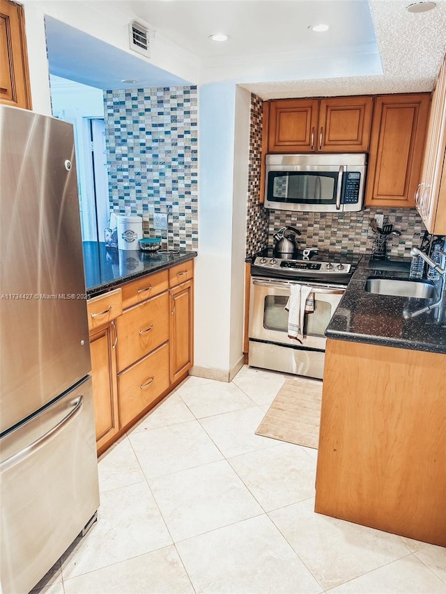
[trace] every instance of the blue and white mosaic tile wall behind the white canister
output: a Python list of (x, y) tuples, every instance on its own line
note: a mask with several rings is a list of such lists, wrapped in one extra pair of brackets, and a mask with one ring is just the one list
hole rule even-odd
[(153, 213), (169, 208), (169, 240), (198, 247), (197, 87), (104, 92), (110, 211), (139, 214), (144, 234)]

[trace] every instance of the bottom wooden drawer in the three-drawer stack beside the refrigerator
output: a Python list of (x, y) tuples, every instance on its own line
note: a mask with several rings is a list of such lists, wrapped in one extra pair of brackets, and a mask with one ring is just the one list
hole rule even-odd
[(121, 428), (133, 421), (169, 387), (169, 345), (153, 353), (118, 376)]

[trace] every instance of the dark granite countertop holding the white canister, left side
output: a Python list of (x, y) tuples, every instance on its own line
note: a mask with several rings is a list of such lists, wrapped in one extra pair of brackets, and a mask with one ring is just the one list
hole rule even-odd
[(83, 242), (85, 285), (88, 297), (111, 290), (139, 276), (169, 268), (197, 256), (196, 251), (162, 255), (141, 250), (106, 247), (102, 242)]

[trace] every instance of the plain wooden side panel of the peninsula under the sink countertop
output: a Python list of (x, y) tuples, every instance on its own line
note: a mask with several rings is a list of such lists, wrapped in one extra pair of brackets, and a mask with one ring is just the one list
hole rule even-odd
[(327, 341), (317, 513), (446, 546), (445, 364)]

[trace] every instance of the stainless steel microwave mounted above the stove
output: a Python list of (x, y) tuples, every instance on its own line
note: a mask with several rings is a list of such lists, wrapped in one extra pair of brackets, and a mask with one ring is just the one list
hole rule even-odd
[(361, 210), (366, 167), (365, 153), (266, 155), (265, 208)]

